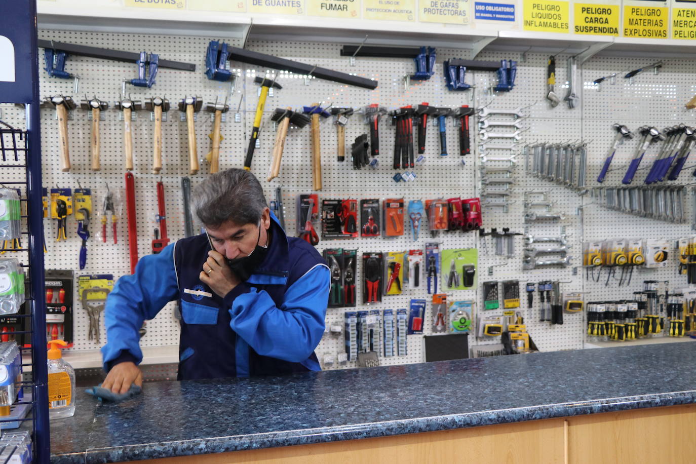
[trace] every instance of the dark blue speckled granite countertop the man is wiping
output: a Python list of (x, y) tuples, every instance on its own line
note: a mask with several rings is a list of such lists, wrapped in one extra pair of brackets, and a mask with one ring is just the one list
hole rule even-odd
[[(696, 344), (500, 356), (78, 392), (52, 463), (109, 463), (696, 403)], [(637, 375), (638, 374), (638, 375)], [(514, 384), (513, 385), (511, 385)]]

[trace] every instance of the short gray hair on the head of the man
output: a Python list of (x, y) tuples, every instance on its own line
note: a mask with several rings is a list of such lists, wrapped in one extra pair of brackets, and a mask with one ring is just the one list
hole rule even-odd
[(248, 170), (232, 168), (205, 179), (193, 190), (193, 210), (203, 225), (220, 227), (227, 221), (256, 224), (267, 207), (258, 179)]

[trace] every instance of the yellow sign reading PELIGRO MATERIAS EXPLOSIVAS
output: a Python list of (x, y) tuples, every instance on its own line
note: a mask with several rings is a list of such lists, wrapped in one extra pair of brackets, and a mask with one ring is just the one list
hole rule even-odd
[(669, 28), (667, 0), (624, 0), (624, 37), (666, 39)]

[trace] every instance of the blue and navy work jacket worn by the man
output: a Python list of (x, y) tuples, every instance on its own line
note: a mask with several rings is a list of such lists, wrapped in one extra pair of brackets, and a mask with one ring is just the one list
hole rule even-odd
[(104, 369), (143, 359), (138, 330), (170, 301), (181, 301), (179, 378), (261, 376), (319, 371), (329, 267), (306, 241), (287, 237), (271, 215), (271, 243), (255, 273), (224, 298), (200, 281), (205, 234), (142, 257), (106, 299)]

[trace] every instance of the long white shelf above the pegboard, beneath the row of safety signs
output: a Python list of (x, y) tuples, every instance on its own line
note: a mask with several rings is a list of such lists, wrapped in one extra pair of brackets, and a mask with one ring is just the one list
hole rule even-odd
[[(459, 24), (331, 19), (309, 16), (252, 15), (195, 10), (95, 8), (58, 6), (40, 2), (40, 29), (193, 35), (211, 38), (254, 40), (299, 40), (365, 45), (454, 47), (503, 51), (535, 51), (577, 54), (608, 44), (603, 56), (693, 57), (696, 40), (641, 39), (611, 35), (541, 33), (532, 31), (487, 31)], [(488, 43), (490, 42), (490, 43)], [(602, 48), (602, 47), (599, 47)], [(477, 50), (478, 51), (478, 50)]]

